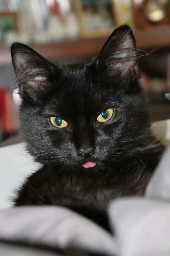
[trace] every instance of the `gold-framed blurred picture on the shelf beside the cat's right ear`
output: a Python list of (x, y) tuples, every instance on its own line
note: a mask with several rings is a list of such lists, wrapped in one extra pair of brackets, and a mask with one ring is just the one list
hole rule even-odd
[(75, 0), (82, 37), (107, 36), (120, 23), (113, 0)]

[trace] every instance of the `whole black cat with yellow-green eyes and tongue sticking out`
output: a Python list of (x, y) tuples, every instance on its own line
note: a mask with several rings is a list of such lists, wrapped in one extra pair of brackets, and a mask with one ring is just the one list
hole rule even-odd
[(118, 196), (144, 194), (163, 152), (150, 131), (129, 26), (114, 30), (88, 64), (54, 65), (13, 43), (21, 133), (43, 167), (25, 180), (15, 205), (61, 205), (108, 229)]

